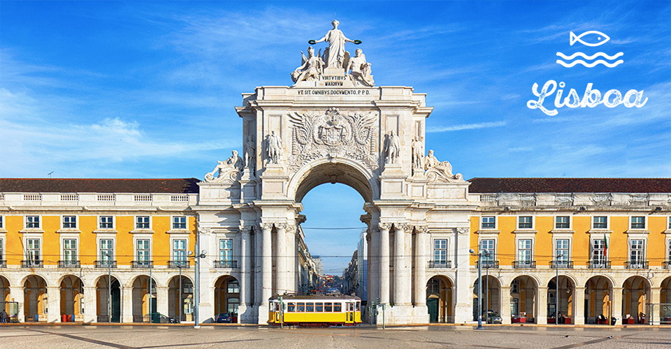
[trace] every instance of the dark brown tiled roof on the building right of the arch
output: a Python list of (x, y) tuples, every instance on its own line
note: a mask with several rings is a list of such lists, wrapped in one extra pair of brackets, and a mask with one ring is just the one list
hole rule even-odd
[(671, 193), (671, 178), (473, 178), (470, 193)]

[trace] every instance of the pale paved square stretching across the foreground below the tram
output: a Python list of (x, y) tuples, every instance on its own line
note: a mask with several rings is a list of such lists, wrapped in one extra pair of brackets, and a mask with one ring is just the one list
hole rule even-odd
[(4, 326), (0, 348), (671, 348), (671, 328)]

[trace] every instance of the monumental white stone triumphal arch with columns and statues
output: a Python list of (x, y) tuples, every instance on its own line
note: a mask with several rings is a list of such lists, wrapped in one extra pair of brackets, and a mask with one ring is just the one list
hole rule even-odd
[[(454, 321), (470, 320), (468, 216), (476, 205), (461, 174), (426, 151), (433, 110), (426, 94), (376, 86), (361, 41), (347, 38), (337, 21), (309, 43), (315, 46), (290, 74), (293, 85), (243, 94), (236, 107), (243, 152), (218, 161), (199, 184), (200, 249), (218, 253), (219, 238), (232, 239), (242, 322), (265, 323), (268, 298), (297, 291), (301, 200), (324, 183), (351, 186), (366, 202), (368, 298), (386, 304), (387, 323), (428, 322), (432, 237), (447, 237), (456, 257), (443, 275)], [(208, 259), (201, 262), (201, 295), (210, 295), (200, 301), (201, 320), (215, 302), (205, 290), (220, 274)]]

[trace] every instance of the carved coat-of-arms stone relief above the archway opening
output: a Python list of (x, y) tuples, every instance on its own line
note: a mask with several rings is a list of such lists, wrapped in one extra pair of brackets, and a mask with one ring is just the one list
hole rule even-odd
[(340, 114), (338, 108), (332, 107), (321, 115), (292, 112), (289, 120), (292, 124), (288, 161), (291, 170), (325, 156), (352, 158), (370, 170), (377, 169), (375, 113)]

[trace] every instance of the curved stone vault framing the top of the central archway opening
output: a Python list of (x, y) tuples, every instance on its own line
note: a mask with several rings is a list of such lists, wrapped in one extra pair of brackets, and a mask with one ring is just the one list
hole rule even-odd
[(319, 158), (303, 165), (288, 184), (287, 196), (301, 202), (312, 188), (325, 183), (341, 183), (354, 188), (363, 200), (380, 198), (380, 188), (372, 172), (348, 158)]

